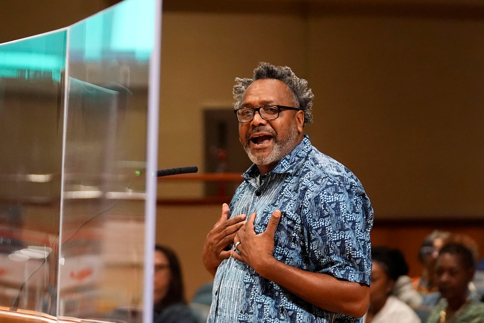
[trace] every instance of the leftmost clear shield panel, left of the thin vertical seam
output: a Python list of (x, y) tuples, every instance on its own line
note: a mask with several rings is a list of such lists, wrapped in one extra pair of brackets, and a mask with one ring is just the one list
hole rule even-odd
[(0, 46), (0, 306), (55, 315), (66, 30)]

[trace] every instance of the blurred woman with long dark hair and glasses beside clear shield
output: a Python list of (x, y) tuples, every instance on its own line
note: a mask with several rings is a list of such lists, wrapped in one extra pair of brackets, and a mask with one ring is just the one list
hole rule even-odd
[(154, 254), (154, 323), (198, 323), (185, 302), (178, 257), (166, 246), (156, 245)]

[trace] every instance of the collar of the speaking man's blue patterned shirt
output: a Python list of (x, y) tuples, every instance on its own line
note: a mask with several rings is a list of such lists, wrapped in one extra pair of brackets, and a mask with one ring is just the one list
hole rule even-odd
[[(294, 149), (287, 154), (283, 159), (281, 159), (276, 166), (269, 172), (270, 173), (290, 173), (294, 174), (298, 169), (301, 168), (307, 154), (313, 149), (311, 145), (311, 140), (307, 135), (304, 135), (302, 141), (294, 147)], [(255, 178), (260, 175), (259, 169), (256, 164), (252, 166), (242, 174), (242, 177), (246, 180)]]

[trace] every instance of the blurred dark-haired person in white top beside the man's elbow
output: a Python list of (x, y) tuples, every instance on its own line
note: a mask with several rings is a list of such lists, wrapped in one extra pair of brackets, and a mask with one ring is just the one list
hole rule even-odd
[(390, 295), (398, 277), (408, 273), (403, 254), (396, 249), (374, 247), (371, 257), (370, 307), (363, 323), (420, 323), (407, 304)]

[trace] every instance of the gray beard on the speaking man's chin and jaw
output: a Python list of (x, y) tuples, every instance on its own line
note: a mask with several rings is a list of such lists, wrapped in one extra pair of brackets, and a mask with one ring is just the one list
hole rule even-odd
[(246, 142), (246, 144), (244, 145), (244, 150), (249, 156), (249, 159), (256, 165), (275, 164), (279, 162), (282, 158), (284, 158), (287, 154), (289, 154), (294, 149), (294, 147), (296, 147), (298, 135), (299, 133), (297, 126), (293, 124), (286, 138), (274, 136), (272, 138), (272, 140), (274, 140), (272, 151), (265, 157), (254, 156), (250, 151), (250, 143)]

